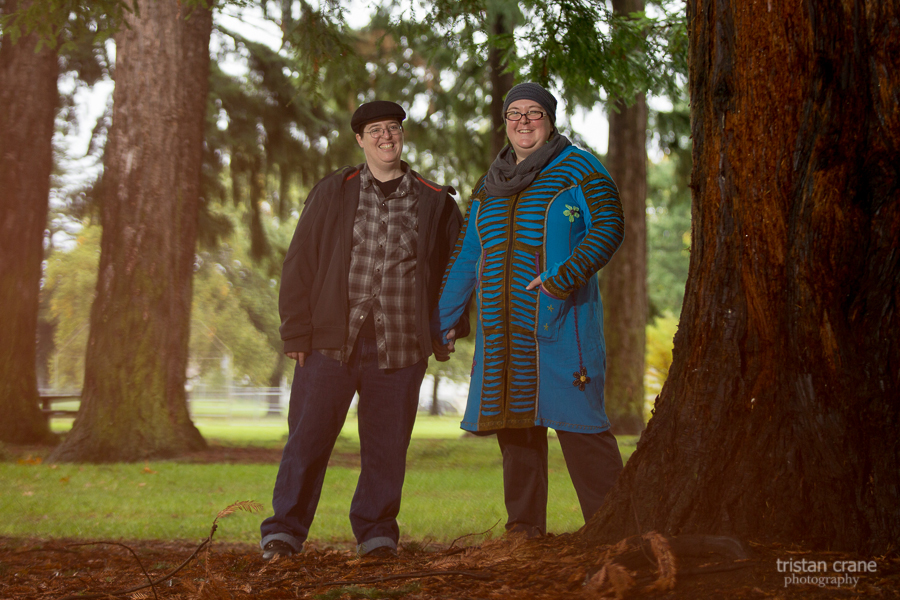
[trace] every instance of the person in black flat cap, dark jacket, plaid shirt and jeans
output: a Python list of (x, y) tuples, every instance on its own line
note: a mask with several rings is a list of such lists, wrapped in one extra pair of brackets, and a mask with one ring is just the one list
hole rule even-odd
[[(357, 553), (396, 555), (406, 450), (432, 354), (430, 318), (462, 225), (453, 188), (401, 159), (405, 119), (399, 104), (385, 100), (353, 113), (365, 161), (316, 184), (284, 259), (280, 331), (297, 365), (274, 515), (260, 527), (266, 560), (302, 550), (355, 394), (361, 469), (350, 524)], [(468, 333), (468, 317), (457, 326)]]

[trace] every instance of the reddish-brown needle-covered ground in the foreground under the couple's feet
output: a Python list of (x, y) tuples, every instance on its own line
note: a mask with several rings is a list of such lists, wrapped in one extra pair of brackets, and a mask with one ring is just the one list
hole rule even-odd
[[(186, 460), (279, 457), (277, 450), (213, 446)], [(678, 557), (662, 538), (645, 538), (631, 552), (598, 547), (578, 534), (504, 536), (477, 545), (466, 538), (443, 546), (407, 542), (390, 559), (308, 544), (302, 554), (267, 563), (258, 547), (218, 543), (214, 535), (205, 544), (0, 537), (0, 598), (900, 599), (896, 551), (863, 558), (750, 542), (743, 559)], [(870, 567), (874, 572), (847, 572)]]

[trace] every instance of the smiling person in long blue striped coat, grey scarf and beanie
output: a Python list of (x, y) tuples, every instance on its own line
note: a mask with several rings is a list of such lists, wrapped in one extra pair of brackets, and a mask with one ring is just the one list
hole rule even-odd
[(475, 186), (444, 272), (435, 340), (452, 351), (474, 292), (461, 426), (497, 435), (506, 529), (528, 536), (547, 530), (547, 428), (557, 432), (585, 521), (622, 470), (604, 408), (597, 280), (622, 242), (622, 205), (600, 161), (556, 130), (556, 104), (536, 83), (507, 95), (509, 144)]

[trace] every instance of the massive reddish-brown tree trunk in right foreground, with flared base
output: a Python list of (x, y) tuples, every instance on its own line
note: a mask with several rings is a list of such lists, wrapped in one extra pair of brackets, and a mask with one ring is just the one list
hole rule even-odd
[(587, 535), (900, 539), (900, 2), (690, 0), (669, 379)]

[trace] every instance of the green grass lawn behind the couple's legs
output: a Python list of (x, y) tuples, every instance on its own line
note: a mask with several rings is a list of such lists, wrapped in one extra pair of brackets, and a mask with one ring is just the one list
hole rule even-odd
[[(286, 425), (262, 420), (200, 422), (216, 443), (280, 447)], [(55, 429), (64, 424), (55, 423)], [(356, 423), (349, 418), (336, 452), (356, 453)], [(636, 438), (620, 438), (623, 457)], [(222, 508), (256, 500), (262, 514), (238, 512), (220, 521), (216, 539), (257, 543), (259, 522), (271, 514), (278, 465), (147, 464), (75, 465), (0, 462), (0, 535), (81, 539), (199, 540)], [(347, 514), (358, 468), (329, 468), (310, 540), (352, 544)], [(555, 533), (582, 525), (575, 490), (559, 443), (550, 441), (548, 528)], [(506, 513), (496, 439), (461, 437), (458, 417), (421, 415), (408, 455), (400, 511), (401, 543), (449, 543), (469, 533), (503, 530)]]

